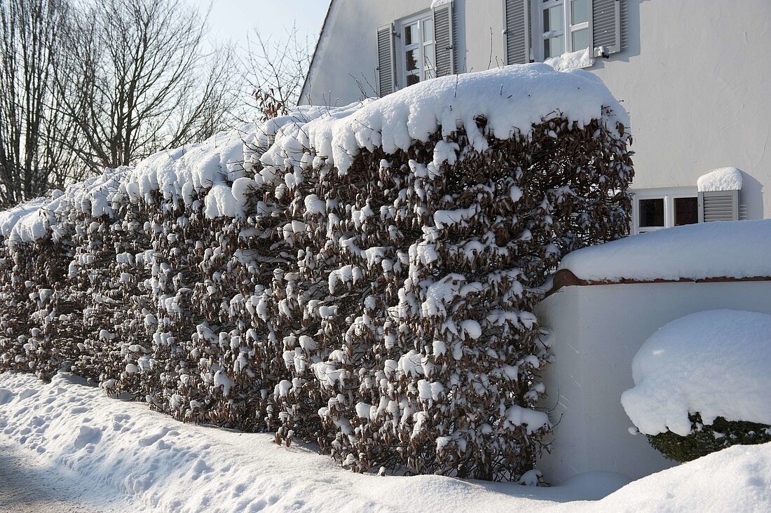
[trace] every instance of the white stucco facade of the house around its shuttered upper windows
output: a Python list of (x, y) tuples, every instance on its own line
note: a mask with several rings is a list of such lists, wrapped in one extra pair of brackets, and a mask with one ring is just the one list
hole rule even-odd
[[(771, 2), (625, 2), (626, 48), (588, 69), (631, 114), (633, 188), (695, 191), (709, 170), (738, 167), (746, 218), (771, 216)], [(362, 89), (375, 96), (378, 27), (430, 4), (333, 0), (301, 103), (351, 103)], [(453, 9), (460, 69), (501, 66), (502, 0), (455, 0)]]

